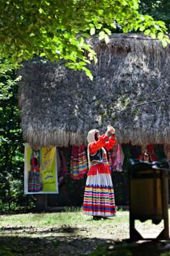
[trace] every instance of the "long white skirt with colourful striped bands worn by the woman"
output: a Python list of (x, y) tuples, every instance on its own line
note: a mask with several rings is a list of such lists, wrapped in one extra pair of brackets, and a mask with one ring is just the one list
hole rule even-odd
[(116, 216), (115, 195), (110, 173), (89, 175), (85, 186), (83, 214)]

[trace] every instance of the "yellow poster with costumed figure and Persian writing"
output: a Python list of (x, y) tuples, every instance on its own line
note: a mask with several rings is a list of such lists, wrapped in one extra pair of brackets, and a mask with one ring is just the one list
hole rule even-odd
[(25, 143), (24, 193), (59, 193), (55, 147), (32, 150)]

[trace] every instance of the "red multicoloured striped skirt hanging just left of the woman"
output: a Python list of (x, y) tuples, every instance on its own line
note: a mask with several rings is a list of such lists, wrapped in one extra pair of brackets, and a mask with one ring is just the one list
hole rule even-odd
[(88, 172), (87, 157), (84, 145), (74, 146), (71, 154), (71, 178), (83, 179)]

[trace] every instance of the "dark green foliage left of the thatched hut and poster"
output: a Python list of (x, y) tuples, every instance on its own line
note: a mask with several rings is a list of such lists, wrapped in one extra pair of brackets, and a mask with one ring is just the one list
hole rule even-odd
[[(2, 61), (0, 66), (3, 64)], [(0, 211), (30, 204), (24, 196), (24, 141), (17, 108), (19, 80), (15, 69), (6, 65), (0, 76)]]

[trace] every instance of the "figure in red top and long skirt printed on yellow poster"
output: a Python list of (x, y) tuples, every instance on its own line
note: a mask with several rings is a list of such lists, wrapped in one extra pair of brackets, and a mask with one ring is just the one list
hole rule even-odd
[(29, 184), (28, 184), (29, 192), (39, 192), (40, 191), (39, 177), (40, 177), (40, 169), (39, 169), (38, 158), (32, 157), (31, 170), (29, 171)]

